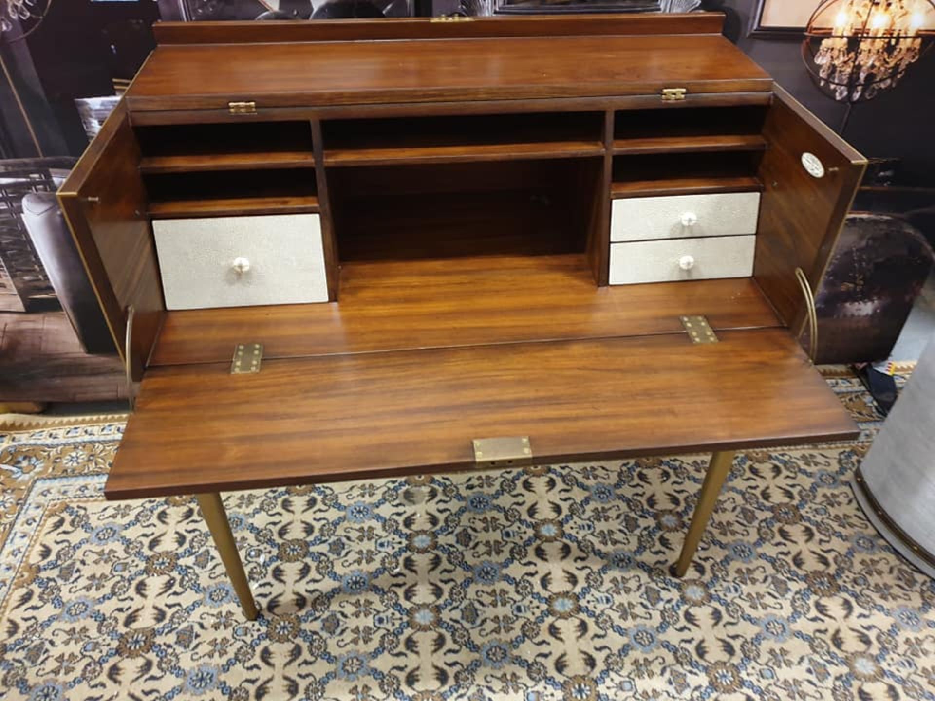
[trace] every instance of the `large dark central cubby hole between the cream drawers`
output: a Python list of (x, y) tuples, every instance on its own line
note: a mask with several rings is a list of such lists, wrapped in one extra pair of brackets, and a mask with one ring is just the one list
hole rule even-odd
[(581, 257), (597, 239), (602, 164), (590, 158), (334, 168), (328, 188), (339, 259), (457, 265), (466, 257)]

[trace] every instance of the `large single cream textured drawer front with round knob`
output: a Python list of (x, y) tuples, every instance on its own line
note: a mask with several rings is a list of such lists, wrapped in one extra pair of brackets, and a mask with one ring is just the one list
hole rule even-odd
[(165, 308), (326, 302), (317, 214), (152, 222)]

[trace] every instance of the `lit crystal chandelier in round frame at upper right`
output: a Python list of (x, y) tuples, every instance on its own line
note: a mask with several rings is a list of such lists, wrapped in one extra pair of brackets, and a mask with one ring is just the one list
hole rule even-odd
[(802, 58), (839, 102), (871, 100), (928, 50), (933, 0), (824, 0), (805, 30)]

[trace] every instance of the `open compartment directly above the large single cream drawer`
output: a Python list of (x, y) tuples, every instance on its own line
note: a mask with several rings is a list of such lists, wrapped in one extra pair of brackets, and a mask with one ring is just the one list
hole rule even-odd
[(156, 219), (318, 211), (311, 168), (150, 174), (145, 183)]

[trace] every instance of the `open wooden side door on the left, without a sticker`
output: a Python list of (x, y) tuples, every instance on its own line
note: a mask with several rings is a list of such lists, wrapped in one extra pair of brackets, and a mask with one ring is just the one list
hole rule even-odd
[(139, 157), (121, 101), (58, 193), (114, 347), (124, 362), (127, 309), (135, 310), (134, 379), (142, 375), (165, 310)]

